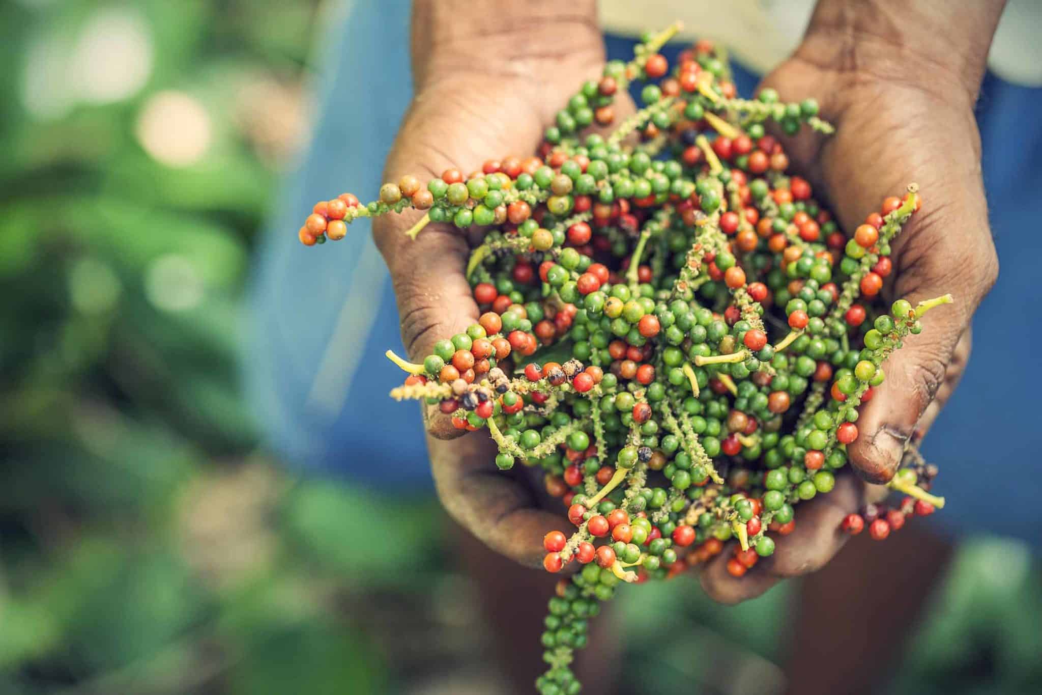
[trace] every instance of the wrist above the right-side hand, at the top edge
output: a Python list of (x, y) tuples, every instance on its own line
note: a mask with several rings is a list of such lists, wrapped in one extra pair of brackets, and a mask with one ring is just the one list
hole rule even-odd
[(972, 104), (1006, 0), (820, 0), (796, 57), (848, 84), (891, 82)]

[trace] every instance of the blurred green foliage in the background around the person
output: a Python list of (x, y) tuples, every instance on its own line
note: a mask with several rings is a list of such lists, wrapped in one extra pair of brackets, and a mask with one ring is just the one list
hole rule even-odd
[[(250, 250), (308, 120), (321, 17), (0, 5), (0, 693), (404, 692), (483, 659), (436, 503), (295, 479), (241, 397)], [(959, 557), (896, 687), (1039, 688), (1034, 561)], [(730, 692), (686, 655), (776, 661), (787, 597), (627, 592), (630, 685)], [(685, 637), (661, 649), (667, 617)]]

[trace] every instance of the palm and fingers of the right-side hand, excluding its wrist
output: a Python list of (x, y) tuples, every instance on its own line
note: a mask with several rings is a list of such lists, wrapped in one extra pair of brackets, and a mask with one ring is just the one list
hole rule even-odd
[[(885, 365), (887, 380), (862, 408), (858, 425), (867, 436), (849, 447), (851, 464), (863, 477), (885, 481), (900, 455), (895, 458), (884, 440), (905, 440), (912, 431), (903, 427), (917, 420), (921, 433), (936, 417), (968, 357), (968, 317), (987, 290), (972, 283), (987, 282), (978, 278), (989, 273), (966, 267), (974, 260), (987, 264), (994, 255), (972, 113), (943, 98), (943, 90), (927, 92), (836, 70), (798, 53), (762, 86), (788, 100), (818, 98), (822, 118), (837, 126), (827, 139), (801, 133), (783, 142), (793, 170), (807, 175), (815, 196), (829, 204), (843, 229), (852, 230), (883, 198), (900, 194), (910, 182), (919, 184), (925, 207), (895, 244), (887, 291), (913, 302), (950, 291), (959, 302), (956, 311), (926, 319), (934, 325)], [(724, 557), (705, 568), (703, 586), (715, 598), (736, 602), (763, 593), (779, 577), (821, 567), (845, 542), (837, 530), (842, 518), (884, 494), (880, 487), (841, 478), (833, 494), (800, 508), (796, 530), (778, 545), (764, 571), (736, 581), (724, 569)]]

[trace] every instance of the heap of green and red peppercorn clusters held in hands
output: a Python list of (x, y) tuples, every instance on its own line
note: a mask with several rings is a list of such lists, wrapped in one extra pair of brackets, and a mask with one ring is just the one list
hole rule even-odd
[[(538, 155), (404, 176), (368, 205), (344, 194), (299, 230), (338, 241), (353, 219), (407, 208), (425, 212), (412, 237), (428, 222), (483, 230), (466, 269), (480, 318), (420, 363), (389, 352), (410, 372), (392, 396), (487, 429), (497, 467), (541, 470), (562, 501), (571, 529), (546, 536), (543, 565), (584, 567), (549, 602), (544, 695), (578, 692), (572, 650), (621, 582), (674, 576), (731, 539), (735, 576), (772, 554), (795, 507), (833, 490), (883, 363), (950, 301), (880, 299), (922, 203), (914, 185), (848, 238), (767, 132), (830, 133), (817, 103), (738, 98), (708, 43), (670, 70), (658, 51), (673, 31), (585, 82)], [(642, 107), (614, 123), (635, 80)], [(615, 130), (584, 135), (595, 123)], [(943, 504), (936, 469), (914, 450), (905, 464), (890, 483), (905, 500), (843, 531), (882, 539)]]

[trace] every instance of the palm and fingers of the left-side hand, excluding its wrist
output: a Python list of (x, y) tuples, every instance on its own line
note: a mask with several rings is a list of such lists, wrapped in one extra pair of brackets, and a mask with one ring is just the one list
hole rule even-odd
[[(582, 78), (600, 74), (600, 38), (591, 34), (587, 43), (564, 58), (519, 60), (517, 67), (529, 77), (431, 77), (414, 99), (388, 158), (386, 180), (405, 173), (426, 180), (449, 168), (466, 175), (489, 158), (534, 153), (554, 109)], [(559, 77), (537, 80), (535, 75)], [(413, 358), (422, 358), (437, 340), (474, 323), (479, 309), (464, 276), (468, 240), (451, 225), (431, 224), (411, 241), (401, 232), (414, 221), (406, 215), (377, 218), (373, 232), (394, 278), (405, 348)], [(527, 471), (496, 470), (496, 447), (487, 437), (452, 439), (461, 432), (437, 407), (426, 416), (431, 472), (449, 514), (493, 549), (539, 564), (543, 536), (561, 525), (560, 513), (542, 508), (541, 482)]]

